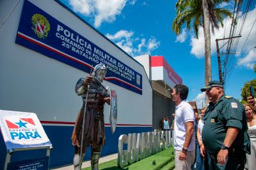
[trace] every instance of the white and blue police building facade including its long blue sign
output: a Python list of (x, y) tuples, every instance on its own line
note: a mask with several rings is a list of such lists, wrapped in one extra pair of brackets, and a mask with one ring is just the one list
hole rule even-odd
[(117, 153), (120, 134), (152, 131), (152, 86), (144, 67), (60, 1), (0, 1), (0, 25), (0, 110), (36, 113), (54, 147), (50, 167), (72, 164), (71, 135), (82, 106), (74, 87), (100, 62), (108, 68), (103, 84), (118, 96), (115, 134), (105, 105), (101, 155)]

